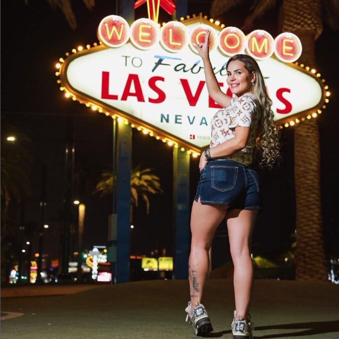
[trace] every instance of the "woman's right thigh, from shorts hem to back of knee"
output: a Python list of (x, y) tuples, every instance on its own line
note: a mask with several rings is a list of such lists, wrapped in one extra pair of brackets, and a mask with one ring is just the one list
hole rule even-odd
[(226, 214), (228, 238), (233, 256), (250, 252), (251, 236), (258, 210), (229, 210)]

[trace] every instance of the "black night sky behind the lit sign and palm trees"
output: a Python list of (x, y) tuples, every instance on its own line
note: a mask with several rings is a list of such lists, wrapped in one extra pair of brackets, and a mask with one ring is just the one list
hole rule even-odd
[[(212, 1), (188, 1), (188, 14), (208, 15)], [(85, 173), (82, 187), (75, 185), (73, 198), (81, 195), (86, 205), (84, 248), (105, 245), (108, 215), (112, 213), (112, 198), (93, 194), (103, 170), (112, 163), (112, 119), (90, 111), (85, 105), (68, 100), (59, 90), (55, 64), (65, 52), (79, 45), (98, 42), (97, 27), (102, 18), (115, 13), (112, 0), (96, 1), (88, 11), (81, 1), (73, 1), (77, 28), (69, 27), (60, 10), (53, 11), (46, 1), (6, 1), (1, 3), (1, 19), (9, 19), (1, 30), (1, 123), (14, 125), (32, 139), (32, 194), (24, 199), (24, 222), (39, 223), (41, 172), (47, 164), (47, 208), (44, 253), (58, 257), (59, 232), (62, 223), (64, 199), (64, 157), (66, 127), (69, 116), (75, 125), (75, 171)], [(238, 7), (223, 15), (226, 25), (241, 27), (248, 7)], [(136, 18), (147, 17), (146, 4), (136, 11)], [(255, 28), (263, 28), (277, 36), (277, 9), (269, 11)], [(215, 18), (217, 19), (217, 18)], [(159, 22), (170, 17), (160, 9)], [(247, 34), (248, 32), (244, 32)], [(339, 255), (338, 169), (335, 166), (339, 143), (338, 119), (338, 32), (324, 25), (316, 42), (317, 69), (326, 79), (332, 93), (330, 103), (318, 118), (321, 147), (321, 198), (326, 253)], [(292, 79), (291, 79), (292, 81)], [(274, 257), (288, 250), (295, 230), (295, 198), (293, 174), (293, 128), (282, 131), (283, 161), (273, 171), (259, 169), (265, 188), (265, 209), (260, 212), (254, 232), (253, 251)], [(164, 193), (151, 196), (150, 214), (145, 205), (135, 208), (131, 232), (131, 254), (146, 254), (156, 248), (166, 248), (174, 254), (172, 230), (172, 148), (133, 129), (132, 166), (154, 168), (160, 177)], [(198, 159), (191, 158), (190, 199), (193, 201), (199, 178)], [(77, 225), (77, 207), (73, 206), (74, 225)], [(310, 206), (310, 209), (312, 206)], [(21, 207), (11, 206), (11, 227), (18, 228)], [(217, 232), (220, 239), (224, 226)], [(75, 238), (75, 234), (73, 234)], [(74, 246), (76, 242), (74, 240)], [(37, 251), (37, 238), (34, 242)], [(227, 245), (225, 245), (227, 248)], [(72, 247), (72, 251), (76, 247)], [(221, 253), (221, 252), (220, 252)], [(222, 253), (221, 253), (222, 254)]]

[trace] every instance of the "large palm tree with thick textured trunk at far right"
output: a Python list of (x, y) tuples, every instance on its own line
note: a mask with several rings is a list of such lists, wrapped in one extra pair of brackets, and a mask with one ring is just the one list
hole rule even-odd
[[(226, 12), (244, 0), (214, 0), (213, 17)], [(244, 31), (260, 18), (276, 0), (257, 0), (252, 13), (245, 19)], [(283, 0), (279, 11), (282, 32), (295, 33), (301, 40), (300, 62), (315, 66), (314, 41), (322, 32), (322, 14), (332, 29), (338, 29), (339, 3), (336, 0)], [(322, 215), (320, 204), (319, 132), (315, 119), (295, 127), (295, 191), (296, 191), (296, 279), (327, 280)]]

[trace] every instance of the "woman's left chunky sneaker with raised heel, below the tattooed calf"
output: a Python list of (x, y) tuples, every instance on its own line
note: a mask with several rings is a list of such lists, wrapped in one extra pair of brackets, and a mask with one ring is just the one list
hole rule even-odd
[(187, 312), (186, 322), (192, 324), (194, 333), (197, 336), (213, 331), (211, 320), (208, 318), (206, 308), (203, 304), (197, 303), (197, 305), (192, 308), (191, 301), (189, 301), (185, 311)]

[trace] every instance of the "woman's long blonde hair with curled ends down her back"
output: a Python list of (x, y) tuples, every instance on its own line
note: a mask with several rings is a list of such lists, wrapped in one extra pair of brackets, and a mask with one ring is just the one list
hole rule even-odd
[(246, 54), (236, 54), (227, 61), (226, 69), (228, 64), (235, 60), (242, 61), (250, 75), (253, 73), (256, 75), (252, 86), (252, 93), (257, 101), (256, 109), (260, 116), (256, 148), (261, 152), (260, 164), (272, 167), (272, 164), (280, 159), (280, 130), (271, 109), (272, 100), (267, 95), (264, 78), (256, 60)]

